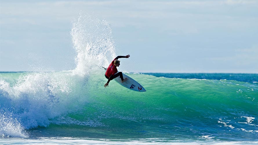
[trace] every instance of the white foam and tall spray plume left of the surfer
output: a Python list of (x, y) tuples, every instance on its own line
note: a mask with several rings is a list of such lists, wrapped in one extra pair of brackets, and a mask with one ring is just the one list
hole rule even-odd
[[(69, 117), (63, 119), (60, 116), (87, 104), (89, 96), (87, 82), (90, 74), (96, 72), (92, 63), (107, 66), (115, 57), (112, 29), (106, 21), (80, 14), (78, 19), (73, 21), (71, 36), (73, 48), (77, 52), (75, 60), (77, 66), (74, 70), (49, 73), (24, 72), (14, 84), (4, 79), (0, 80), (2, 136), (15, 136), (12, 131), (24, 132), (24, 129), (37, 126), (47, 127), (51, 122), (100, 125), (92, 120), (85, 123)], [(12, 114), (12, 117), (6, 115), (3, 117), (2, 113)], [(19, 131), (15, 128), (19, 128)]]

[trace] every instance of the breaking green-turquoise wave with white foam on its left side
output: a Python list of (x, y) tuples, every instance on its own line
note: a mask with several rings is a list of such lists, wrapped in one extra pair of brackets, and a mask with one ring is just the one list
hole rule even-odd
[[(14, 124), (21, 130), (50, 124), (107, 128), (144, 124), (152, 129), (177, 124), (182, 131), (189, 125), (258, 131), (255, 84), (128, 74), (147, 90), (138, 93), (115, 81), (104, 88), (103, 73), (92, 66), (87, 77), (71, 71), (1, 74), (1, 119), (17, 120)], [(14, 82), (10, 75), (19, 76), (16, 83), (10, 83)], [(2, 130), (1, 134), (12, 136)]]

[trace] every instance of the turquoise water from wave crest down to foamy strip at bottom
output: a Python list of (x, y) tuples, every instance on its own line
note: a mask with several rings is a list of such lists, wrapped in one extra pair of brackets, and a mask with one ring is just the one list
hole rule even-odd
[(258, 141), (255, 83), (127, 74), (139, 93), (98, 70), (1, 73), (1, 136)]

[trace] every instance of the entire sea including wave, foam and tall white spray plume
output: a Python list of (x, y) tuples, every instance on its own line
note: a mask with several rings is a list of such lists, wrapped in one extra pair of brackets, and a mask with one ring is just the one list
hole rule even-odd
[(80, 15), (74, 70), (0, 73), (0, 144), (258, 143), (258, 74), (126, 73), (147, 91), (104, 88), (92, 63), (116, 57), (111, 32)]

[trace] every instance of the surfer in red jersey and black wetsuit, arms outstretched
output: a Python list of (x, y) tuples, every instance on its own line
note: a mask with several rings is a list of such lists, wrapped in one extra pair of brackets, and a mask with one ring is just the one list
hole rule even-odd
[[(129, 58), (130, 55), (126, 56), (117, 56), (111, 64), (108, 66), (107, 71), (105, 73), (105, 77), (108, 79), (108, 82), (104, 85), (106, 88), (108, 86), (108, 83), (112, 80), (115, 79), (116, 77), (120, 76), (122, 82), (125, 82), (127, 78), (123, 79), (123, 74), (122, 72), (117, 71), (117, 67), (120, 65), (120, 61), (118, 60), (119, 58)], [(117, 73), (118, 72), (118, 73)]]

